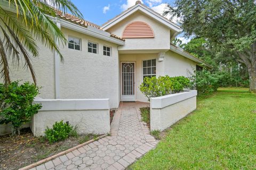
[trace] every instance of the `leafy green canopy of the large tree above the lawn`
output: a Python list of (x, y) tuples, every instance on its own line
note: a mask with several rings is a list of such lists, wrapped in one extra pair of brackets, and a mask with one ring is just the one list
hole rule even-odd
[(207, 39), (221, 58), (244, 63), (256, 92), (256, 5), (249, 1), (176, 0), (165, 14), (180, 18), (185, 36)]

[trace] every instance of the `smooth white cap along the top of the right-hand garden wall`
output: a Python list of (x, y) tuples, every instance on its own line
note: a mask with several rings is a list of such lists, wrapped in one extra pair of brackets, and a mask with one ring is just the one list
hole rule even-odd
[(184, 92), (179, 92), (178, 94), (171, 94), (160, 97), (151, 97), (150, 98), (150, 108), (159, 109), (166, 106), (173, 105), (182, 100), (189, 99), (191, 97), (197, 96), (197, 90), (186, 90)]

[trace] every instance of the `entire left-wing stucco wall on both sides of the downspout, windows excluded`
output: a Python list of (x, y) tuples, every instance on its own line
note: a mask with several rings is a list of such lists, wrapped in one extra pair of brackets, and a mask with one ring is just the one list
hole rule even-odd
[[(82, 40), (82, 50), (69, 49), (60, 45), (64, 63), (59, 64), (60, 98), (109, 98), (110, 108), (119, 105), (119, 60), (117, 45), (107, 41), (86, 36), (66, 28), (61, 28), (65, 37), (78, 37)], [(87, 52), (88, 40), (98, 44), (98, 54)], [(103, 45), (111, 47), (111, 56), (103, 56)], [(55, 98), (55, 61), (53, 52), (43, 44), (38, 43), (39, 56), (31, 58), (34, 66), (37, 85), (42, 87), (39, 97)], [(11, 63), (11, 60), (10, 60)], [(24, 63), (24, 62), (23, 62)], [(33, 82), (29, 70), (14, 69), (10, 65), (11, 80)]]

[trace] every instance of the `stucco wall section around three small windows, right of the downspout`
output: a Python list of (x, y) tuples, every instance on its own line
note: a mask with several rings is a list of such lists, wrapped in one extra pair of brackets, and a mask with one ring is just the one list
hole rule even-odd
[[(118, 51), (117, 45), (69, 29), (61, 29), (68, 36), (82, 39), (82, 50), (65, 47), (60, 63), (60, 98), (109, 98), (110, 108), (118, 108)], [(97, 43), (98, 54), (87, 52), (87, 43)], [(103, 45), (111, 47), (111, 56), (103, 55)]]

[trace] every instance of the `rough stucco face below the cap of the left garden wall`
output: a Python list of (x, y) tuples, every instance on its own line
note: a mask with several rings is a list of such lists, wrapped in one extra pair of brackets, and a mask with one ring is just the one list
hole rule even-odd
[(35, 136), (44, 135), (55, 122), (68, 121), (76, 126), (78, 134), (106, 134), (110, 131), (109, 110), (39, 111), (32, 118), (31, 130)]

